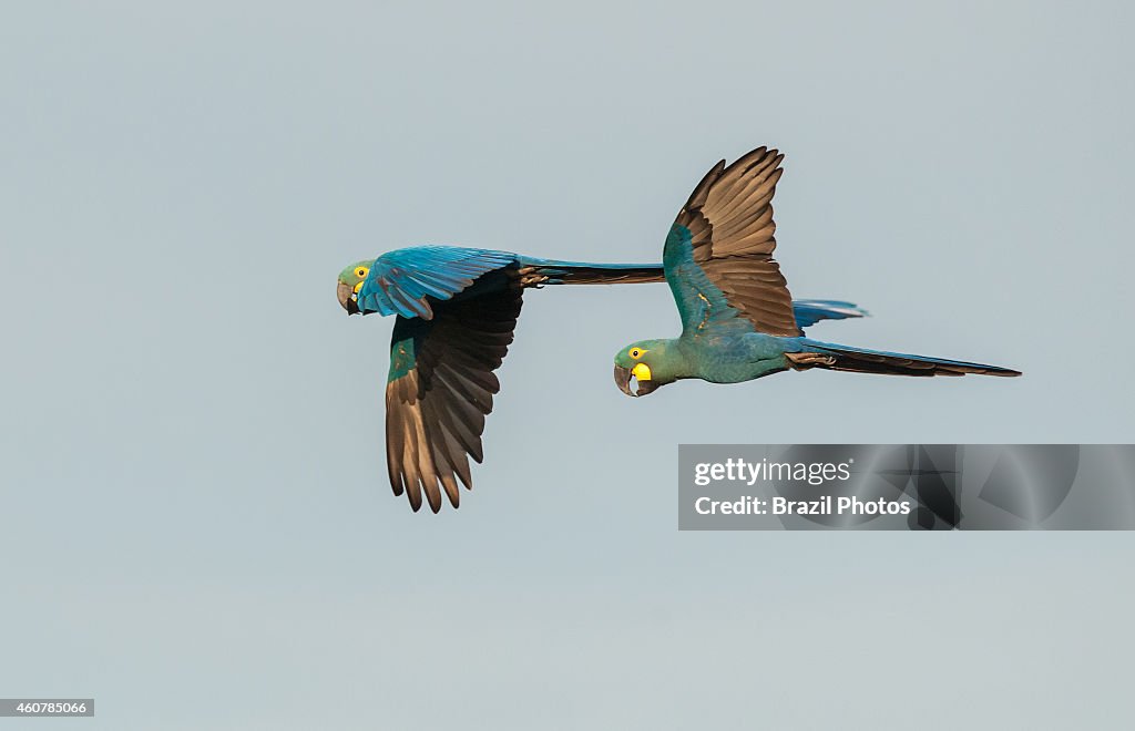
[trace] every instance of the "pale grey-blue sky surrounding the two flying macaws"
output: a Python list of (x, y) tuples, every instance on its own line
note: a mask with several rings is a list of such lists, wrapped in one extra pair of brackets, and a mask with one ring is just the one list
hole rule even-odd
[[(679, 534), (680, 442), (1130, 442), (1119, 2), (6, 3), (0, 696), (83, 729), (1130, 728), (1116, 534)], [(788, 155), (813, 333), (1015, 381), (631, 400), (664, 287), (528, 297), (460, 511), (386, 484), (422, 243), (657, 260)], [(0, 720), (0, 729), (19, 728)]]

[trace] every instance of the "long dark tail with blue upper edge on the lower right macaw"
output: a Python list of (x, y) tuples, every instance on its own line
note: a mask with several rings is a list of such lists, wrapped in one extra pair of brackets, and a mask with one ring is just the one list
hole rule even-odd
[(855, 373), (880, 373), (884, 375), (1020, 375), (1020, 371), (984, 363), (930, 358), (907, 352), (866, 350), (832, 342), (819, 342), (808, 338), (798, 340), (799, 350), (787, 354), (789, 363), (798, 369), (825, 368), (827, 371), (851, 371)]

